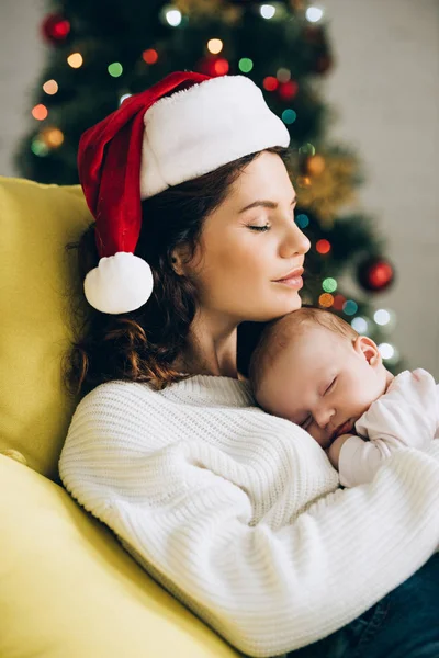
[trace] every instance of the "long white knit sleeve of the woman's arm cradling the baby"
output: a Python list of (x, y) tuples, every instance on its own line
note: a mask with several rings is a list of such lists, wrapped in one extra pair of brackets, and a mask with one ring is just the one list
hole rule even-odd
[(245, 489), (191, 460), (190, 442), (157, 442), (143, 453), (127, 440), (136, 432), (123, 400), (111, 412), (99, 398), (82, 400), (59, 463), (66, 488), (249, 656), (275, 656), (334, 633), (413, 575), (438, 544), (439, 441), (428, 454), (395, 454), (372, 483), (338, 489), (274, 531), (263, 520), (248, 523)]

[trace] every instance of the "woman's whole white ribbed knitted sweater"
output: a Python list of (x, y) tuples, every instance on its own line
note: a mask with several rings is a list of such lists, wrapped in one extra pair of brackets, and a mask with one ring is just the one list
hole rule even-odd
[(340, 489), (301, 428), (246, 382), (198, 375), (155, 392), (111, 382), (72, 418), (70, 494), (230, 644), (275, 656), (334, 633), (439, 541), (439, 441)]

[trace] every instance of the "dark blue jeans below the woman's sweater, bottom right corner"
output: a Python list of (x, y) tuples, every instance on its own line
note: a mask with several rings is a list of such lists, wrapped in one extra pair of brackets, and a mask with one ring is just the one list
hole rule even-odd
[(364, 614), (288, 658), (439, 658), (439, 554)]

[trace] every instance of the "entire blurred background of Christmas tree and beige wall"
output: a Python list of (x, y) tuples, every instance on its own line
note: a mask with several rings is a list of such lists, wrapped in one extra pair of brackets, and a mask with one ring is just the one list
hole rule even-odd
[(290, 129), (304, 303), (439, 381), (439, 0), (2, 0), (0, 174), (76, 183), (79, 135), (176, 69), (249, 76)]

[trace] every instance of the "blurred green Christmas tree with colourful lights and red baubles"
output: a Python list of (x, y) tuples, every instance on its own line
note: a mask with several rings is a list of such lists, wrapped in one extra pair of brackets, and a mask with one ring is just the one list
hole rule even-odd
[[(173, 70), (250, 77), (291, 135), (296, 223), (312, 242), (304, 304), (351, 322), (379, 344), (386, 367), (399, 372), (389, 343), (394, 315), (371, 304), (394, 270), (376, 219), (349, 209), (363, 182), (356, 154), (325, 135), (335, 114), (320, 91), (334, 64), (323, 11), (305, 0), (59, 0), (48, 12), (42, 23), (47, 65), (31, 132), (16, 154), (22, 175), (78, 183), (83, 131)], [(347, 271), (354, 295), (342, 287)], [(246, 330), (251, 349), (255, 337)]]

